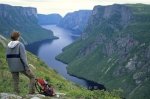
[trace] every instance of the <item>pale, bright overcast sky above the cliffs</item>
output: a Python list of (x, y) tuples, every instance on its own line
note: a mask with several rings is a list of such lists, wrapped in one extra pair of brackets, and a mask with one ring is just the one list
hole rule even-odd
[(0, 0), (0, 4), (36, 7), (40, 14), (59, 13), (62, 16), (80, 9), (92, 10), (95, 5), (111, 5), (114, 3), (150, 4), (150, 0)]

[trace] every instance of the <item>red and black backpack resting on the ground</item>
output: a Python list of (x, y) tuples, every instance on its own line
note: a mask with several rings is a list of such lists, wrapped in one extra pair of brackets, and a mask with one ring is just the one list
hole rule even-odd
[(45, 96), (55, 95), (54, 88), (42, 78), (36, 79), (35, 87), (40, 94), (43, 94)]

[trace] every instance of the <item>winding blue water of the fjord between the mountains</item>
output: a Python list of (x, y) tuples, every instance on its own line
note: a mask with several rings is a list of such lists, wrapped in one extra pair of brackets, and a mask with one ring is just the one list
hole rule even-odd
[[(67, 73), (66, 64), (57, 61), (55, 57), (62, 52), (62, 49), (74, 42), (79, 35), (74, 35), (72, 31), (63, 29), (55, 25), (44, 25), (45, 29), (53, 31), (54, 35), (59, 37), (55, 40), (43, 40), (39, 42), (32, 43), (26, 46), (26, 49), (33, 54), (37, 55), (41, 60), (43, 60), (50, 68), (56, 70), (60, 75), (62, 75), (67, 80), (70, 80), (76, 84), (84, 87), (99, 85), (91, 81), (79, 79), (77, 77), (71, 76)], [(102, 86), (102, 85), (99, 85)]]

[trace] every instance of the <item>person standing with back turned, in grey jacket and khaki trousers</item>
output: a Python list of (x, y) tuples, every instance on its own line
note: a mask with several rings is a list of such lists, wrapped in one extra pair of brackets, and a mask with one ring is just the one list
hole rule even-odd
[(19, 41), (19, 37), (19, 32), (12, 32), (11, 41), (8, 43), (6, 49), (6, 60), (13, 78), (13, 89), (14, 92), (20, 93), (19, 73), (22, 73), (30, 79), (29, 94), (34, 94), (35, 76), (28, 66), (26, 50), (24, 45)]

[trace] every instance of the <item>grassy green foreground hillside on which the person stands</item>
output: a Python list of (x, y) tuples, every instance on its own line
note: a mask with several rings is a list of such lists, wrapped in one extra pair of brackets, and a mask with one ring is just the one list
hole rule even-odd
[[(8, 64), (6, 62), (5, 49), (8, 40), (0, 35), (0, 98), (1, 99), (31, 99), (28, 93), (28, 78), (24, 75), (20, 74), (20, 96), (16, 96), (13, 92), (12, 87), (12, 76), (8, 69)], [(56, 71), (49, 68), (43, 61), (41, 61), (38, 57), (27, 52), (28, 63), (30, 64), (30, 68), (34, 72), (37, 78), (44, 78), (48, 81), (50, 85), (52, 85), (57, 93), (65, 93), (65, 96), (60, 96), (59, 99), (120, 99), (118, 94), (114, 94), (115, 92), (107, 92), (107, 91), (90, 91), (86, 88), (80, 87), (60, 76)], [(8, 94), (7, 94), (8, 93)], [(30, 96), (30, 98), (29, 98)], [(33, 96), (36, 96), (33, 95)], [(32, 96), (32, 97), (33, 97)], [(36, 99), (39, 95), (36, 96)], [(51, 97), (43, 97), (40, 99), (49, 99)], [(53, 98), (53, 97), (52, 97)], [(54, 97), (54, 99), (57, 99)]]

